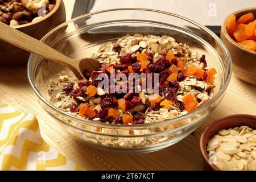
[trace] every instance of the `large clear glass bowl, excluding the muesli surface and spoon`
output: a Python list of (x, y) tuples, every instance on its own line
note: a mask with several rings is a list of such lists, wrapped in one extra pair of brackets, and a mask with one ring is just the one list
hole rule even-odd
[(105, 42), (127, 34), (169, 35), (205, 54), (217, 70), (212, 100), (183, 117), (144, 125), (111, 125), (69, 115), (49, 102), (48, 84), (63, 65), (31, 54), (28, 80), (39, 102), (74, 137), (106, 151), (152, 152), (171, 146), (194, 131), (224, 97), (231, 77), (231, 59), (221, 40), (208, 28), (182, 16), (158, 10), (114, 9), (79, 16), (49, 32), (42, 42), (73, 59), (91, 56)]

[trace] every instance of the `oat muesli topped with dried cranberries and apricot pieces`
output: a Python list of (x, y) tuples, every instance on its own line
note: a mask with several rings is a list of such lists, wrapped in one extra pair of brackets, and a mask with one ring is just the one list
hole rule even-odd
[[(50, 81), (48, 92), (55, 107), (95, 122), (136, 125), (180, 117), (213, 97), (216, 70), (207, 67), (205, 55), (192, 52), (170, 36), (127, 35), (102, 44), (92, 57), (102, 68), (85, 72), (86, 79), (77, 80), (72, 73), (63, 72)], [(139, 93), (119, 93), (116, 88), (115, 93), (106, 92), (98, 87), (101, 80), (97, 78), (112, 72), (144, 73), (146, 78), (150, 73), (159, 74), (159, 92), (142, 90), (141, 80)], [(122, 87), (130, 80), (114, 81)]]

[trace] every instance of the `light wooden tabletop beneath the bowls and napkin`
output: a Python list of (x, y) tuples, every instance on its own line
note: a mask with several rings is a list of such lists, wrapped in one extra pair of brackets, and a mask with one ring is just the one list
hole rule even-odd
[[(66, 9), (68, 1), (65, 1)], [(70, 1), (71, 2), (71, 1)], [(67, 13), (70, 12), (67, 10)], [(65, 133), (38, 104), (27, 81), (26, 65), (0, 65), (0, 100), (38, 118), (43, 138), (73, 162), (86, 170), (202, 170), (203, 158), (199, 150), (201, 132), (210, 121), (230, 114), (256, 113), (256, 87), (232, 77), (221, 104), (191, 135), (164, 150), (149, 154), (125, 155), (102, 152), (73, 139)]]

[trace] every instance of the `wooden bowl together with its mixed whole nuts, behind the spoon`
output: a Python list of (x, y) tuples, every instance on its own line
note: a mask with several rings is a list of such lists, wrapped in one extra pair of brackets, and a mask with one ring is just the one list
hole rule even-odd
[[(23, 5), (25, 2), (27, 6)], [(43, 10), (44, 7), (41, 8), (42, 4), (39, 6), (38, 2), (49, 2), (46, 10)], [(38, 40), (42, 39), (50, 30), (64, 23), (66, 20), (64, 3), (61, 0), (22, 0), (6, 1), (6, 3), (3, 1), (2, 3), (4, 5), (0, 5), (0, 21)], [(9, 9), (9, 6), (12, 9)], [(36, 12), (38, 14), (34, 14)], [(0, 65), (24, 64), (27, 63), (28, 57), (30, 56), (29, 52), (2, 40), (0, 40), (0, 50)]]

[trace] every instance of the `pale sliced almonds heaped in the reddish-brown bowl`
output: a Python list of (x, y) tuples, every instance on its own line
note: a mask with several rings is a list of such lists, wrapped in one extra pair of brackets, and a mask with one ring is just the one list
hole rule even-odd
[[(209, 159), (216, 160), (221, 170), (253, 170), (256, 158), (253, 131), (248, 126), (220, 130), (218, 133), (222, 136), (214, 135), (208, 142)], [(212, 152), (216, 152), (215, 158)]]

